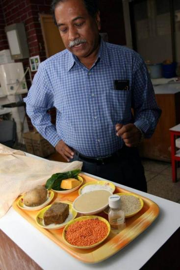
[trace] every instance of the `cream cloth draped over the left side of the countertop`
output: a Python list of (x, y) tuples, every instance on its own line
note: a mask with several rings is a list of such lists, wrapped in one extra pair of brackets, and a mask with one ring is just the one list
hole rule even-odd
[(0, 217), (22, 193), (43, 185), (53, 173), (81, 169), (82, 162), (54, 162), (26, 156), (0, 144)]

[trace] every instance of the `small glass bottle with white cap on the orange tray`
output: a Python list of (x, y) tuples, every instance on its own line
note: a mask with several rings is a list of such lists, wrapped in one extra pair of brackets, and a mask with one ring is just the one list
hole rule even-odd
[(119, 233), (126, 227), (125, 212), (121, 210), (121, 197), (119, 195), (109, 196), (108, 220), (115, 233)]

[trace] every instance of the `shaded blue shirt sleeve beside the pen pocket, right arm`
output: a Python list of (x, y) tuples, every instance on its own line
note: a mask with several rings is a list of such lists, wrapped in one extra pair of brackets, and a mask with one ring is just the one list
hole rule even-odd
[(154, 88), (146, 64), (137, 56), (132, 79), (132, 108), (134, 125), (150, 138), (155, 130), (161, 109), (155, 100)]

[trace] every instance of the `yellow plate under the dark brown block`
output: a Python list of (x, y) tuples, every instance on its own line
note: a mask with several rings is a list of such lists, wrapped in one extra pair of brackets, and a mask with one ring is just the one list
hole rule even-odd
[(47, 207), (45, 207), (41, 211), (39, 211), (39, 213), (36, 216), (36, 223), (45, 229), (53, 229), (53, 230), (60, 229), (60, 228), (63, 228), (64, 226), (66, 226), (66, 224), (69, 221), (71, 221), (72, 219), (74, 219), (77, 216), (77, 212), (73, 209), (73, 206), (71, 203), (66, 202), (66, 201), (63, 201), (62, 203), (69, 204), (69, 216), (66, 218), (66, 220), (63, 223), (50, 224), (50, 225), (44, 224), (44, 219), (43, 219), (44, 213), (51, 207), (52, 204), (48, 205)]

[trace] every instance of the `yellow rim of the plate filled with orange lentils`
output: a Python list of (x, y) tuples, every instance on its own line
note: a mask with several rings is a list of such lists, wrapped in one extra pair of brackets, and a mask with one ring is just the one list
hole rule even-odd
[[(108, 232), (107, 232), (107, 235), (103, 238), (102, 241), (98, 242), (98, 243), (95, 243), (93, 245), (89, 245), (89, 246), (77, 246), (77, 245), (72, 245), (70, 244), (67, 240), (66, 240), (66, 231), (68, 230), (69, 226), (76, 223), (77, 221), (81, 221), (81, 220), (86, 220), (86, 219), (99, 219), (101, 221), (103, 221), (106, 225), (107, 225), (107, 228), (108, 228)], [(71, 247), (76, 247), (76, 248), (80, 248), (80, 249), (87, 249), (87, 248), (92, 248), (92, 247), (95, 247), (99, 244), (101, 244), (109, 235), (110, 233), (110, 224), (109, 222), (103, 218), (102, 216), (80, 216), (80, 217), (77, 217), (76, 219), (68, 222), (68, 224), (66, 225), (66, 227), (64, 228), (63, 230), (63, 233), (62, 233), (62, 236), (63, 236), (63, 239), (65, 241), (66, 244), (68, 244), (69, 246)]]

